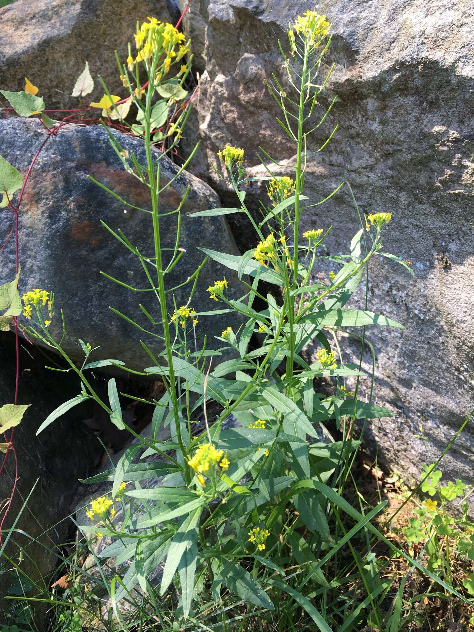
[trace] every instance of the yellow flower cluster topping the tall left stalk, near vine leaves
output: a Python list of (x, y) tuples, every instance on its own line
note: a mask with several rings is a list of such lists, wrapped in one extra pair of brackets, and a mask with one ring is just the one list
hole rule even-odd
[[(133, 64), (143, 59), (149, 59), (157, 52), (164, 54), (163, 71), (164, 74), (169, 71), (171, 62), (179, 61), (186, 53), (189, 52), (189, 42), (185, 45), (182, 42), (186, 39), (183, 33), (169, 23), (164, 23), (156, 18), (148, 18), (148, 22), (143, 22), (142, 28), (137, 30), (135, 34), (135, 44), (137, 44), (137, 58), (135, 62), (131, 55), (127, 58), (128, 70), (133, 70)], [(178, 46), (178, 52), (174, 47)]]

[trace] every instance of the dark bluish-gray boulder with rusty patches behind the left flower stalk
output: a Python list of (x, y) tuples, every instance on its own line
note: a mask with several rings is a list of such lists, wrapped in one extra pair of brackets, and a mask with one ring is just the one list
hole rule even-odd
[[(46, 138), (47, 131), (39, 121), (8, 118), (0, 121), (2, 138), (1, 154), (23, 174), (30, 161)], [(143, 142), (130, 135), (117, 134), (121, 145), (128, 152), (135, 152), (138, 162), (146, 164)], [(158, 154), (157, 154), (158, 156)], [(161, 178), (165, 183), (173, 178), (178, 167), (163, 157)], [(100, 223), (114, 231), (122, 229), (131, 243), (143, 255), (154, 256), (153, 230), (150, 215), (125, 207), (119, 200), (95, 185), (88, 175), (94, 176), (121, 198), (138, 207), (149, 207), (145, 186), (127, 173), (118, 155), (111, 147), (106, 131), (100, 125), (70, 125), (61, 128), (44, 146), (33, 166), (25, 188), (20, 210), (20, 294), (32, 288), (54, 291), (55, 315), (51, 333), (58, 339), (62, 333), (61, 308), (66, 319), (66, 337), (63, 348), (75, 359), (83, 357), (78, 338), (100, 345), (94, 358), (116, 358), (133, 369), (143, 369), (153, 364), (143, 350), (143, 340), (155, 355), (162, 351), (159, 333), (140, 310), (142, 304), (155, 320), (160, 320), (159, 305), (154, 293), (126, 289), (100, 274), (103, 270), (112, 277), (135, 288), (149, 288), (149, 283), (137, 257), (124, 248)], [(204, 260), (198, 246), (207, 246), (231, 253), (238, 253), (228, 225), (222, 217), (188, 217), (188, 213), (219, 206), (216, 193), (203, 181), (183, 172), (160, 195), (160, 212), (175, 210), (184, 197), (188, 197), (181, 209), (181, 238), (179, 246), (185, 254), (166, 275), (167, 288), (183, 283)], [(169, 261), (176, 242), (176, 214), (161, 217), (162, 248), (164, 262)], [(11, 231), (11, 214), (0, 214), (0, 234)], [(15, 276), (15, 240), (11, 238), (2, 253), (3, 265), (0, 283)], [(206, 288), (215, 279), (226, 275), (229, 296), (236, 298), (237, 275), (221, 265), (207, 264), (201, 270), (191, 307), (196, 312), (219, 308), (209, 300)], [(186, 305), (193, 281), (174, 292), (178, 306)], [(169, 293), (168, 312), (173, 313), (173, 294)], [(135, 320), (143, 329), (109, 310), (116, 308)], [(208, 347), (222, 346), (214, 339), (222, 329), (231, 325), (226, 315), (200, 317), (196, 332), (198, 348), (204, 334)], [(193, 344), (193, 343), (191, 343)]]

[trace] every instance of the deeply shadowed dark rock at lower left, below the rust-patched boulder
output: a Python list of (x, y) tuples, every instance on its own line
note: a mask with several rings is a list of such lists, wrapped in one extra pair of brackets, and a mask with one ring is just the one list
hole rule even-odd
[[(0, 333), (0, 407), (11, 404), (15, 398), (15, 337)], [(0, 629), (16, 623), (18, 628), (28, 627), (21, 621), (24, 602), (4, 599), (7, 595), (22, 597), (20, 582), (27, 597), (46, 597), (39, 588), (49, 589), (60, 556), (66, 552), (64, 543), (70, 541), (74, 525), (68, 518), (78, 478), (88, 475), (99, 444), (82, 423), (87, 406), (78, 407), (61, 416), (38, 437), (36, 431), (47, 415), (66, 399), (77, 393), (77, 381), (71, 374), (52, 373), (44, 364), (54, 365), (54, 358), (42, 349), (20, 341), (20, 389), (18, 404), (31, 404), (20, 425), (15, 428), (13, 446), (18, 461), (18, 482), (13, 502), (2, 526), (5, 542), (9, 528), (15, 524), (3, 557), (0, 561)], [(89, 413), (90, 414), (90, 413)], [(6, 433), (7, 439), (10, 431)], [(3, 435), (1, 441), (4, 441)], [(97, 447), (95, 447), (97, 446)], [(0, 453), (1, 462), (4, 454)], [(98, 456), (98, 455), (97, 455)], [(8, 454), (0, 473), (0, 520), (4, 516), (5, 501), (11, 495), (15, 480), (15, 456)], [(30, 492), (31, 495), (30, 495)], [(25, 507), (23, 503), (27, 500)], [(24, 549), (20, 555), (21, 549)], [(67, 557), (67, 554), (66, 554)], [(30, 578), (32, 582), (27, 581)], [(49, 629), (51, 607), (47, 603), (30, 602), (36, 629)], [(33, 625), (33, 623), (32, 623)], [(9, 628), (8, 628), (9, 629)]]

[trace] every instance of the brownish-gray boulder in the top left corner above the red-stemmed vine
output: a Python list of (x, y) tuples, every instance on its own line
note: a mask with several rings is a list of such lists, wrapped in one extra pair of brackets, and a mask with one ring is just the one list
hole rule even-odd
[[(47, 108), (78, 107), (71, 97), (87, 61), (95, 80), (85, 102), (97, 101), (106, 82), (126, 96), (114, 51), (125, 60), (137, 20), (154, 16), (174, 23), (166, 0), (17, 0), (0, 9), (0, 89), (23, 90), (25, 76)], [(97, 111), (99, 112), (99, 110)]]

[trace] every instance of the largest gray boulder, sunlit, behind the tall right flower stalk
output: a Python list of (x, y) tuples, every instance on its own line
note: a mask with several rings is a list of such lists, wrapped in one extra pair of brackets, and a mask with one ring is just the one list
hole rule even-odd
[[(279, 111), (264, 80), (272, 71), (284, 75), (277, 39), (286, 46), (289, 21), (313, 8), (306, 0), (197, 3), (207, 59), (196, 102), (201, 174), (227, 142), (245, 148), (252, 174), (265, 174), (258, 145), (294, 164), (294, 146), (276, 122)], [(363, 212), (392, 212), (386, 250), (414, 264), (415, 279), (382, 258), (371, 268), (370, 309), (407, 329), (368, 331), (376, 353), (375, 401), (395, 416), (372, 423), (367, 438), (386, 465), (418, 477), (430, 460), (425, 443), (413, 436), (420, 423), (436, 458), (472, 405), (474, 5), (324, 0), (317, 10), (334, 32), (323, 73), (335, 66), (322, 105), (338, 98), (309, 150), (319, 149), (336, 123), (339, 130), (309, 159), (305, 192), (311, 202), (325, 198), (344, 172)], [(222, 183), (213, 185), (228, 197)], [(264, 199), (265, 191), (260, 194)], [(308, 209), (303, 224), (332, 224), (330, 251), (348, 252), (358, 222), (347, 188)], [(239, 236), (243, 249), (255, 239), (245, 226)], [(328, 271), (322, 267), (321, 274)], [(362, 298), (363, 292), (353, 304), (362, 305)], [(343, 346), (356, 356), (351, 339)], [(468, 427), (444, 459), (448, 477), (474, 483), (473, 440)]]

